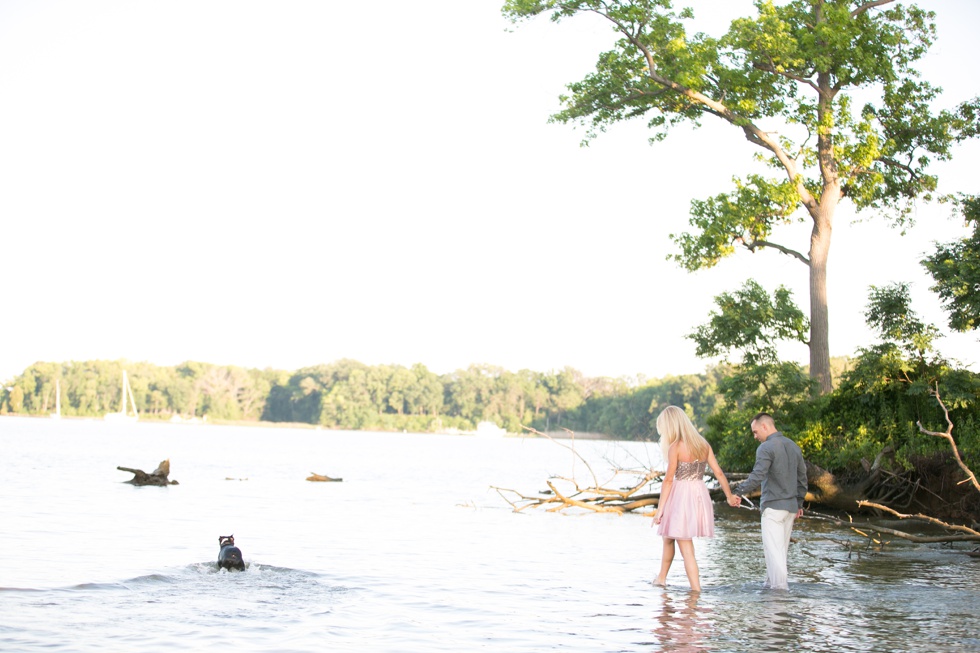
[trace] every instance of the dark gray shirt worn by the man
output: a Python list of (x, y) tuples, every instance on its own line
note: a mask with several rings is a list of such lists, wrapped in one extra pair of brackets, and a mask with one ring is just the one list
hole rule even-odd
[(755, 467), (733, 492), (748, 494), (762, 486), (761, 511), (766, 508), (796, 512), (806, 498), (806, 463), (795, 442), (774, 431), (755, 452)]

